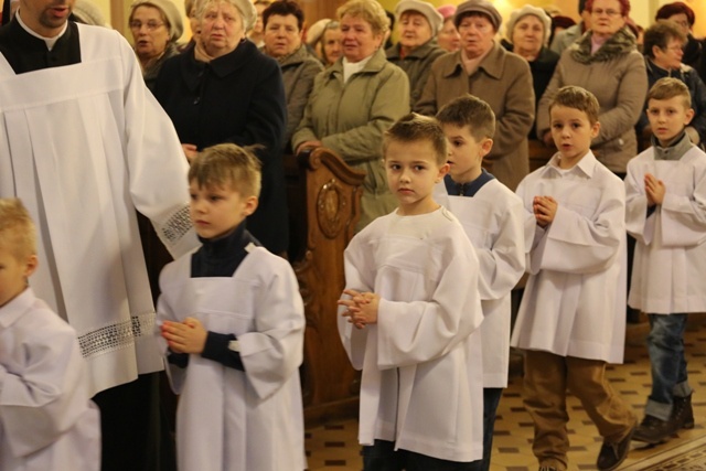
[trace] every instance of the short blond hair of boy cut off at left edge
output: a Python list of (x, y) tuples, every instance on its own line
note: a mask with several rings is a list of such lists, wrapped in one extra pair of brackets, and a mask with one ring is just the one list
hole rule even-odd
[(0, 199), (0, 246), (18, 260), (36, 255), (36, 228), (20, 200)]

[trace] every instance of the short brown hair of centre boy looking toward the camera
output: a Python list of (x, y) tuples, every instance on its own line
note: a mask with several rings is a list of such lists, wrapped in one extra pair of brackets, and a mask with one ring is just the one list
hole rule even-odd
[(447, 142), (443, 130), (435, 118), (410, 113), (402, 117), (383, 135), (383, 156), (387, 157), (391, 142), (428, 141), (434, 148), (436, 162), (443, 165), (448, 160)]

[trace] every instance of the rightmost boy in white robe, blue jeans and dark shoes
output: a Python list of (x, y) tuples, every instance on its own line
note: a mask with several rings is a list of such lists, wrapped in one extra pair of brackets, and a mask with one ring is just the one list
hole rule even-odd
[(662, 78), (648, 94), (652, 147), (628, 163), (628, 232), (638, 240), (630, 306), (648, 313), (652, 392), (634, 440), (659, 443), (694, 427), (684, 356), (688, 312), (706, 312), (706, 154), (685, 127), (688, 88)]

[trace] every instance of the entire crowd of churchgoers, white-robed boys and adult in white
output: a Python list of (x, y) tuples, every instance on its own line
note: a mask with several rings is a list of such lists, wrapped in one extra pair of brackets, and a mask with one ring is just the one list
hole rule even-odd
[[(511, 345), (542, 471), (569, 465), (567, 390), (601, 471), (695, 426), (706, 40), (686, 3), (641, 28), (630, 0), (579, 0), (578, 23), (186, 0), (181, 44), (173, 1), (137, 0), (132, 45), (92, 7), (3, 6), (0, 470), (306, 469), (284, 156), (320, 147), (365, 173), (338, 312), (365, 471), (488, 471)], [(533, 172), (530, 140), (555, 150)], [(641, 420), (605, 376), (628, 304), (650, 321)]]

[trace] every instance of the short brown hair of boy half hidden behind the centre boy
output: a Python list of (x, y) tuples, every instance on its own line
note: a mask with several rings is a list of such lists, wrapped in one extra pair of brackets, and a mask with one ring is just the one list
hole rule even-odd
[(459, 128), (468, 126), (477, 142), (495, 136), (493, 109), (488, 103), (472, 95), (460, 96), (449, 101), (439, 110), (437, 119), (442, 125), (453, 125)]

